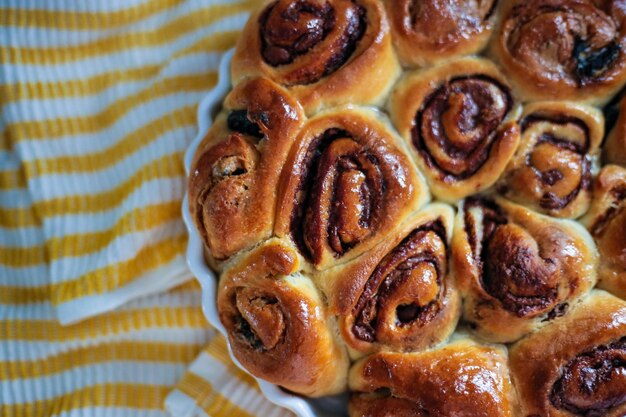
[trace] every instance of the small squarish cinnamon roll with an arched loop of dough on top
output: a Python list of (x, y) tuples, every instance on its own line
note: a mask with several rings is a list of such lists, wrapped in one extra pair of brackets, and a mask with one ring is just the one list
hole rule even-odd
[(500, 192), (554, 217), (583, 215), (604, 137), (602, 113), (574, 103), (532, 103), (524, 108), (520, 126), (522, 140)]

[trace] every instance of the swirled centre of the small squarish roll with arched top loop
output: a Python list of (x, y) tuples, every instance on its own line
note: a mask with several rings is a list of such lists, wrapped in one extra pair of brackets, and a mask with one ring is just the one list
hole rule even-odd
[(513, 191), (527, 195), (546, 210), (558, 210), (581, 191), (589, 190), (589, 128), (582, 120), (533, 114), (522, 121), (521, 127), (523, 134), (538, 137), (526, 155), (526, 166), (510, 178), (508, 185), (519, 187)]

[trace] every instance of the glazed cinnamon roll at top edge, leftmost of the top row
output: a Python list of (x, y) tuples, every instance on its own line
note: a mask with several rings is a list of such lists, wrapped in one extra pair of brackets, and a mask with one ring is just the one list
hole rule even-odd
[(400, 75), (377, 0), (274, 0), (254, 14), (232, 61), (238, 83), (266, 76), (308, 114), (341, 104), (380, 104)]

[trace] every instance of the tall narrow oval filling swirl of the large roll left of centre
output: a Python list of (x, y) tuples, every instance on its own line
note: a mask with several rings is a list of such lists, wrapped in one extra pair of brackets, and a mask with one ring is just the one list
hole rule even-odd
[(340, 129), (312, 141), (291, 219), (291, 234), (305, 257), (318, 262), (326, 245), (340, 257), (376, 230), (385, 215), (386, 180), (379, 164), (388, 162), (380, 156)]

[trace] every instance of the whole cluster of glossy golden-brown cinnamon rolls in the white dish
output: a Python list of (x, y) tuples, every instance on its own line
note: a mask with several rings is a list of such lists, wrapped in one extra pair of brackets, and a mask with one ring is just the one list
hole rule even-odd
[(246, 369), (354, 417), (626, 415), (626, 0), (272, 0), (232, 82), (189, 207)]

